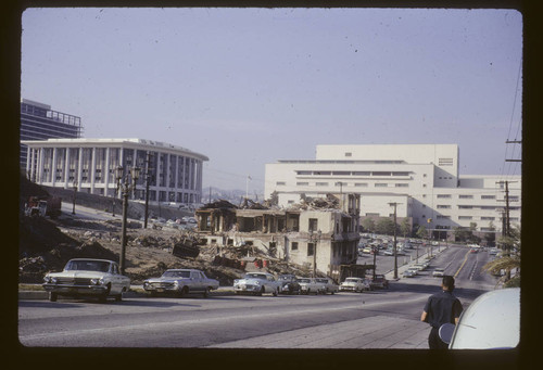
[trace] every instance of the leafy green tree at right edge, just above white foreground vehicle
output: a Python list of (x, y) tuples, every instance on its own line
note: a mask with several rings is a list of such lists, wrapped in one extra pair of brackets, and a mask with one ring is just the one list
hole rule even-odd
[[(509, 235), (500, 237), (497, 244), (503, 250), (502, 255), (484, 265), (485, 271), (500, 275), (505, 270), (505, 275), (497, 283), (503, 282), (505, 288), (520, 286), (520, 229), (513, 228)], [(510, 272), (516, 270), (515, 277), (510, 278)]]

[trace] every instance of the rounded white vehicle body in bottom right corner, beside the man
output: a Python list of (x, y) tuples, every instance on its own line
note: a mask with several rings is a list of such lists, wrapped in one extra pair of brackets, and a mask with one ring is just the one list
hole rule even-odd
[(462, 314), (454, 349), (515, 348), (520, 340), (520, 288), (482, 294)]

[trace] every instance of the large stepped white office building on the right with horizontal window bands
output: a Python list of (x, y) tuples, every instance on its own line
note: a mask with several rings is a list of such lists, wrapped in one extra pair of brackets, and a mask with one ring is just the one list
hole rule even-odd
[[(279, 205), (300, 195), (361, 194), (361, 217), (397, 217), (443, 239), (455, 227), (500, 233), (506, 196), (509, 222), (520, 225), (521, 177), (460, 175), (457, 144), (317, 145), (313, 161), (266, 164), (265, 196), (275, 191)], [(507, 190), (507, 192), (506, 192)]]

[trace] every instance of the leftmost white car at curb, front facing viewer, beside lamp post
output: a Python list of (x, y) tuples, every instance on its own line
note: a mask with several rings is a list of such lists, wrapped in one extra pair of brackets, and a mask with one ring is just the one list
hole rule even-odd
[(130, 289), (130, 279), (121, 275), (116, 263), (108, 259), (71, 259), (62, 272), (48, 273), (43, 281), (51, 302), (59, 296), (94, 296), (101, 303), (113, 296), (122, 301), (123, 293)]

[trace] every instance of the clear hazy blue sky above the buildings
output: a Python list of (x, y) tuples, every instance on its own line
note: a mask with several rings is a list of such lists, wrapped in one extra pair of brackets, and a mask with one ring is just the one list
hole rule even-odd
[(520, 175), (515, 10), (30, 8), (22, 27), (21, 98), (85, 138), (204, 154), (204, 188), (262, 194), (266, 163), (317, 144), (456, 143), (460, 175)]

